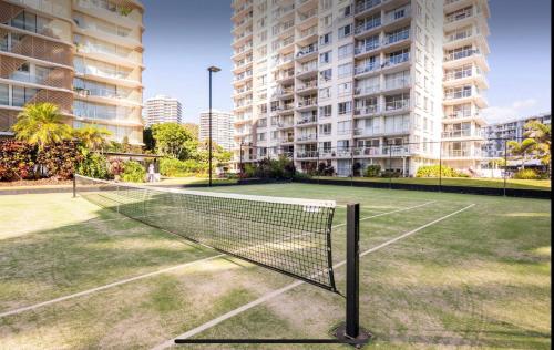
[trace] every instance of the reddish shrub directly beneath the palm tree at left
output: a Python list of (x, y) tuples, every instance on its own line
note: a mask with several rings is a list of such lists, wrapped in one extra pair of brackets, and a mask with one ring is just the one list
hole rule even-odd
[(37, 163), (44, 166), (48, 176), (66, 179), (73, 176), (75, 165), (82, 157), (75, 142), (64, 141), (45, 146)]

